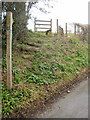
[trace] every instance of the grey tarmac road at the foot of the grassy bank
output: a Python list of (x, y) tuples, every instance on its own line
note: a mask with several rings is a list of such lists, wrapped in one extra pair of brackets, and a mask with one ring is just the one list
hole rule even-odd
[(88, 118), (88, 80), (79, 83), (37, 118)]

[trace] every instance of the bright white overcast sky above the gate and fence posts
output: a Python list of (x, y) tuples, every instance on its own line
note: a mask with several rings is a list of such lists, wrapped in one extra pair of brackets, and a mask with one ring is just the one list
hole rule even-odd
[[(51, 13), (44, 14), (33, 8), (31, 12), (34, 17), (41, 20), (53, 20), (53, 32), (56, 32), (56, 19), (59, 20), (59, 25), (65, 29), (65, 23), (68, 23), (68, 29), (70, 28), (70, 23), (81, 23), (88, 24), (88, 2), (89, 0), (55, 0), (54, 8), (48, 8)], [(39, 6), (43, 6), (40, 3)], [(28, 21), (28, 28), (34, 28), (33, 20)]]

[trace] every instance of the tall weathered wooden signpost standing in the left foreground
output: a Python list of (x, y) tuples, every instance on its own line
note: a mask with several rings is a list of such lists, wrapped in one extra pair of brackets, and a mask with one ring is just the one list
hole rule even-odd
[(7, 12), (6, 16), (6, 35), (7, 35), (7, 48), (6, 48), (6, 64), (7, 64), (7, 89), (12, 88), (12, 12)]

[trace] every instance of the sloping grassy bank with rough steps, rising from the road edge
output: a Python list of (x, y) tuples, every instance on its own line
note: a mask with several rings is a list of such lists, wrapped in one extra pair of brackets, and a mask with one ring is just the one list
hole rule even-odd
[(48, 99), (58, 92), (58, 86), (72, 82), (87, 66), (87, 41), (29, 32), (28, 39), (18, 42), (13, 51), (12, 90), (6, 90), (5, 57), (3, 59), (3, 115)]

